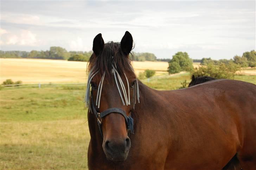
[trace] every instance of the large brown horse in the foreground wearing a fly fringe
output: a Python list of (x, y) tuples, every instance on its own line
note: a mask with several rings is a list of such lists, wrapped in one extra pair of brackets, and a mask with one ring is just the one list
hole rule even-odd
[(172, 91), (137, 81), (133, 38), (94, 38), (85, 102), (89, 169), (256, 169), (256, 85), (212, 80)]

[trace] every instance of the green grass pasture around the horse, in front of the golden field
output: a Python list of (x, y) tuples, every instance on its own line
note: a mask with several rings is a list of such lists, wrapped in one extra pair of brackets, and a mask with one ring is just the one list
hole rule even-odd
[[(190, 82), (190, 74), (145, 80), (158, 90)], [(235, 76), (256, 84), (256, 76)], [(1, 89), (0, 169), (87, 169), (90, 140), (85, 87)]]

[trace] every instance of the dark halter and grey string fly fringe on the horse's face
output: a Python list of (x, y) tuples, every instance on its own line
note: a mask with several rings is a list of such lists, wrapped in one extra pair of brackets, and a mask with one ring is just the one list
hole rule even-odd
[[(112, 64), (112, 67), (113, 67), (112, 72), (114, 74), (115, 83), (116, 83), (117, 89), (119, 91), (119, 95), (121, 97), (122, 103), (123, 103), (123, 105), (128, 106), (128, 105), (130, 105), (130, 88), (129, 88), (128, 78), (127, 78), (126, 74), (123, 73), (124, 77), (126, 78), (126, 81), (127, 81), (127, 87), (128, 87), (128, 96), (127, 96), (126, 88), (124, 86), (124, 83), (123, 83), (119, 73), (117, 72), (116, 64), (115, 63), (114, 63), (114, 65)], [(97, 119), (97, 123), (98, 123), (98, 127), (100, 129), (101, 136), (103, 137), (102, 128), (101, 128), (102, 118), (109, 115), (110, 113), (118, 113), (118, 114), (122, 115), (125, 119), (127, 130), (130, 131), (131, 133), (134, 133), (133, 118), (130, 117), (130, 116), (127, 116), (126, 112), (124, 110), (122, 110), (120, 108), (117, 108), (117, 107), (113, 107), (113, 108), (107, 109), (107, 110), (105, 110), (101, 113), (97, 112), (96, 107), (94, 105), (93, 97), (92, 97), (92, 95), (90, 95), (90, 93), (92, 92), (91, 87), (90, 87), (90, 82), (91, 82), (92, 78), (98, 73), (98, 71), (94, 71), (94, 68), (95, 68), (95, 66), (92, 67), (92, 69), (91, 69), (91, 71), (89, 72), (89, 75), (88, 75), (87, 90), (86, 90), (84, 102), (85, 102), (86, 107), (89, 106), (88, 107), (89, 111), (92, 111), (94, 113), (94, 115)], [(101, 92), (102, 92), (104, 77), (105, 77), (105, 72), (103, 73), (103, 75), (101, 77), (101, 81), (98, 85), (97, 98), (96, 98), (96, 106), (98, 106), (98, 108), (100, 108)], [(119, 88), (119, 84), (118, 84), (117, 79), (119, 80), (123, 95), (122, 95), (121, 90)], [(135, 86), (134, 86), (134, 89), (133, 89), (133, 97), (134, 97), (133, 98), (133, 109), (134, 109), (135, 104), (136, 104), (136, 98), (138, 100), (138, 103), (140, 103), (139, 84), (138, 84), (137, 79), (136, 79), (136, 83), (135, 83)], [(123, 100), (123, 98), (124, 98), (124, 100)], [(92, 109), (91, 109), (91, 106), (92, 106)]]

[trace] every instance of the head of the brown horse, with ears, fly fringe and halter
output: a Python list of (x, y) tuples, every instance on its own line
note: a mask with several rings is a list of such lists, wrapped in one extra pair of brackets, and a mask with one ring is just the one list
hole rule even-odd
[(104, 43), (98, 34), (88, 65), (85, 102), (89, 114), (95, 115), (103, 138), (102, 148), (110, 161), (126, 160), (131, 146), (131, 113), (139, 102), (139, 85), (129, 57), (132, 47), (133, 38), (128, 31), (121, 43)]

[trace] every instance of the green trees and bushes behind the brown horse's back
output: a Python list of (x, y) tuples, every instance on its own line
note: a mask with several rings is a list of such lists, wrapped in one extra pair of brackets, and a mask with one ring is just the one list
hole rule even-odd
[(187, 71), (194, 76), (210, 76), (216, 79), (233, 78), (236, 71), (243, 67), (256, 67), (256, 51), (244, 52), (242, 56), (234, 56), (233, 59), (212, 60), (203, 58), (200, 67), (193, 68), (193, 60), (189, 58), (186, 52), (178, 52), (172, 56), (169, 61), (169, 74)]

